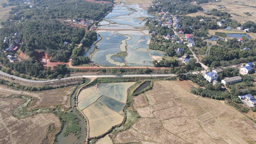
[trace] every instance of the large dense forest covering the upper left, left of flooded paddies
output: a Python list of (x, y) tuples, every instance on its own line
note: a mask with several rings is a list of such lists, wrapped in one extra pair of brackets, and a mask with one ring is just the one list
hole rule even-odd
[[(67, 62), (71, 55), (75, 65), (88, 63), (90, 59), (83, 57), (81, 53), (72, 54), (76, 44), (83, 47), (90, 46), (97, 40), (97, 33), (94, 31), (86, 32), (84, 28), (71, 27), (64, 25), (57, 18), (71, 19), (93, 19), (99, 20), (112, 9), (111, 5), (85, 2), (84, 0), (33, 0), (31, 5), (22, 4), (21, 0), (9, 0), (8, 4), (17, 5), (9, 13), (9, 19), (1, 21), (0, 38), (7, 37), (9, 43), (1, 40), (0, 49), (5, 48), (18, 38), (22, 43), (20, 50), (28, 55), (28, 60), (11, 63), (6, 59), (7, 54), (1, 53), (4, 58), (0, 62), (21, 74), (39, 78), (63, 77), (68, 73), (66, 66), (61, 73), (43, 68), (36, 60), (35, 51), (45, 51), (54, 61)], [(14, 33), (19, 35), (12, 40)], [(67, 43), (64, 43), (67, 42)]]

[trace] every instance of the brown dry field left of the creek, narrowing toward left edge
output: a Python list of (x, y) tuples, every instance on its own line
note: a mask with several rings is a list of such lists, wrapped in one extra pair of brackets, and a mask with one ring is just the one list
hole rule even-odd
[(42, 92), (26, 92), (0, 85), (0, 97), (9, 97), (11, 95), (25, 95), (33, 97), (35, 100), (29, 105), (28, 110), (37, 108), (54, 108), (60, 105), (60, 109), (66, 110), (70, 108), (70, 96), (76, 89), (76, 86), (47, 90)]

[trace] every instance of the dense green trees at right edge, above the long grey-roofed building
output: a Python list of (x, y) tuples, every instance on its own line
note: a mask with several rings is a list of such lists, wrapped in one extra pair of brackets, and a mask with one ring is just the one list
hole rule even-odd
[[(212, 45), (209, 55), (201, 61), (210, 67), (228, 66), (256, 60), (256, 40), (243, 37), (244, 43), (236, 38), (228, 41), (217, 41), (220, 45)], [(245, 47), (251, 50), (240, 50)]]

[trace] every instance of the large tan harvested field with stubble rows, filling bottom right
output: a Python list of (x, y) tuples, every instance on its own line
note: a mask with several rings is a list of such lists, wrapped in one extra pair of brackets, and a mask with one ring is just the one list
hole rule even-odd
[[(191, 81), (155, 81), (145, 97), (134, 97), (140, 121), (117, 133), (115, 143), (247, 143), (256, 142), (256, 124), (217, 100), (189, 92)], [(142, 104), (140, 104), (142, 102)], [(143, 104), (144, 103), (144, 104)]]

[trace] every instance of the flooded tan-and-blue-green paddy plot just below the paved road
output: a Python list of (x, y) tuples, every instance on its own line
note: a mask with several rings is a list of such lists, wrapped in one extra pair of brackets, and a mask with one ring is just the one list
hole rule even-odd
[(107, 132), (124, 119), (127, 90), (135, 82), (96, 84), (80, 91), (77, 106), (89, 120), (89, 136)]

